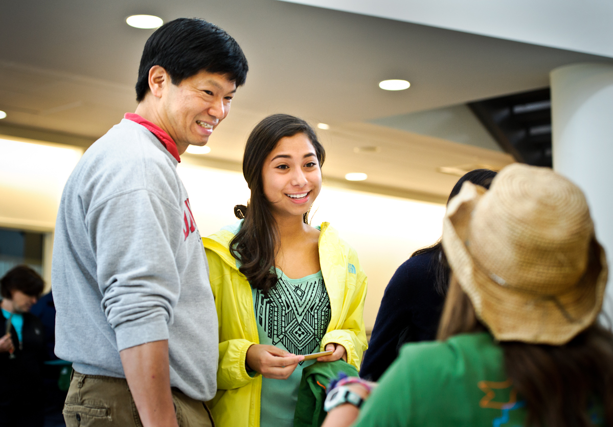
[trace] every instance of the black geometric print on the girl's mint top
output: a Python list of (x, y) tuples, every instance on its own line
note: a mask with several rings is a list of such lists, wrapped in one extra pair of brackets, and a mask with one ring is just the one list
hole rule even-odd
[(256, 297), (256, 320), (273, 345), (281, 343), (295, 355), (319, 348), (331, 317), (330, 297), (321, 274), (300, 283), (289, 282), (281, 274), (267, 297), (260, 290)]

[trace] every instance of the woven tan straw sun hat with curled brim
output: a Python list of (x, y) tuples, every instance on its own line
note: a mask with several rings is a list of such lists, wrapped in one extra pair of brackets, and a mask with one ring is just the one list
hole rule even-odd
[(498, 340), (565, 344), (600, 312), (604, 250), (584, 194), (550, 169), (511, 164), (487, 192), (465, 182), (447, 207), (443, 247)]

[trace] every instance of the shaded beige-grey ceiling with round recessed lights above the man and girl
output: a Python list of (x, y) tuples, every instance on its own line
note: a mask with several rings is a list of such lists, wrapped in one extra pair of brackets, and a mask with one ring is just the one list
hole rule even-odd
[[(8, 117), (0, 133), (20, 126), (96, 139), (135, 108), (140, 53), (152, 31), (131, 28), (125, 18), (195, 16), (234, 36), (250, 67), (203, 162), (237, 167), (254, 124), (286, 112), (330, 124), (319, 131), (330, 182), (366, 172), (368, 191), (438, 201), (457, 180), (438, 167), (501, 167), (511, 158), (441, 133), (406, 131), (402, 123), (389, 127), (385, 118), (546, 87), (557, 66), (610, 61), (275, 0), (21, 0), (1, 8), (0, 110)], [(379, 80), (389, 78), (407, 79), (411, 88), (380, 90)], [(381, 150), (354, 152), (363, 145)]]

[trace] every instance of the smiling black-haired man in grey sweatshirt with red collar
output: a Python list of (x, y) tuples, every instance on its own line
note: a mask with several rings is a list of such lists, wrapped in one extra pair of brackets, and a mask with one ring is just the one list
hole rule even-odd
[(223, 29), (162, 25), (143, 50), (135, 113), (70, 175), (52, 266), (55, 352), (74, 367), (67, 426), (211, 425), (218, 323), (177, 164), (207, 143), (247, 71)]

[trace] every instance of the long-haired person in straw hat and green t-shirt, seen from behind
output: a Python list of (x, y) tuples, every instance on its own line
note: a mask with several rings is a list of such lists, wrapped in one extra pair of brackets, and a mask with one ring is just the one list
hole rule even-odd
[(323, 426), (613, 426), (607, 264), (582, 191), (524, 164), (489, 191), (466, 182), (443, 247), (438, 341), (405, 345), (378, 387), (341, 380)]

